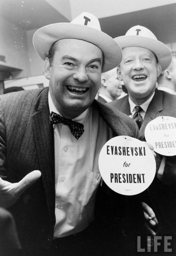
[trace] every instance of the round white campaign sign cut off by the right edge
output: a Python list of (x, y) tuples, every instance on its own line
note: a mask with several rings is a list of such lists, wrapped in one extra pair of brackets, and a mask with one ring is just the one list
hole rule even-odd
[(157, 117), (150, 121), (145, 128), (145, 139), (157, 153), (176, 155), (176, 118)]

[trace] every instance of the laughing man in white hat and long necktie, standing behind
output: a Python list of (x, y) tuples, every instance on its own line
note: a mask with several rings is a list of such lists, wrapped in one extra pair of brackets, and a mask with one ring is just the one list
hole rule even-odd
[[(130, 28), (125, 36), (114, 39), (123, 52), (118, 77), (123, 80), (128, 96), (109, 104), (137, 122), (139, 139), (145, 141), (144, 130), (151, 120), (162, 115), (176, 117), (176, 96), (156, 89), (158, 76), (171, 62), (171, 52), (149, 29), (139, 25)], [(162, 156), (157, 155), (157, 172), (161, 160)], [(175, 156), (167, 157), (160, 168), (162, 177), (156, 176), (149, 187), (165, 234), (176, 231), (176, 196), (169, 192), (171, 187), (172, 192), (175, 191), (175, 168)]]

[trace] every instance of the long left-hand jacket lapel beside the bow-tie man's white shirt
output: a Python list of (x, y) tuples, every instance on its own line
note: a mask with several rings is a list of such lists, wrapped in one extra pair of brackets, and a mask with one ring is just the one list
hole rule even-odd
[(51, 225), (55, 223), (55, 160), (54, 132), (49, 124), (48, 88), (44, 89), (35, 104), (32, 115), (33, 136), (37, 148), (40, 171), (46, 195)]

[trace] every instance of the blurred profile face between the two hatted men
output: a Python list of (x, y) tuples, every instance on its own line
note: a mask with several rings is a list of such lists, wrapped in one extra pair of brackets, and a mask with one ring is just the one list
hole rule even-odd
[[(118, 97), (121, 95), (121, 92), (119, 90), (119, 86), (121, 86), (121, 81), (117, 77), (117, 68), (112, 69), (108, 71), (108, 76), (106, 78), (107, 82), (107, 92), (112, 96), (112, 97)], [(120, 93), (120, 95), (119, 95)]]

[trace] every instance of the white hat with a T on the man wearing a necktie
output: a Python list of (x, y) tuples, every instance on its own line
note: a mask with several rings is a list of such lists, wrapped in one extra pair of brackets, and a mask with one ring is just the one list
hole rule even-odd
[(158, 58), (162, 70), (165, 70), (172, 59), (169, 48), (162, 42), (158, 41), (156, 36), (143, 26), (133, 26), (125, 36), (115, 37), (114, 40), (121, 46), (125, 47), (143, 47), (151, 50)]

